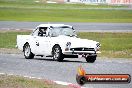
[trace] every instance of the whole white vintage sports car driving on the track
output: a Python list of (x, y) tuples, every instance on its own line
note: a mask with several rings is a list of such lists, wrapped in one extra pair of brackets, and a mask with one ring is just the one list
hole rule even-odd
[(40, 24), (30, 35), (17, 35), (17, 47), (26, 59), (34, 56), (53, 57), (56, 61), (82, 56), (93, 63), (100, 43), (80, 39), (72, 26), (64, 24)]

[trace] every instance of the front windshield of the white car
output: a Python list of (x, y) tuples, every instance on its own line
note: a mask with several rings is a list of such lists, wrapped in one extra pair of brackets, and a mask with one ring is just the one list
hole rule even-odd
[(66, 35), (66, 36), (76, 36), (76, 32), (74, 29), (70, 27), (54, 27), (52, 29), (52, 35), (53, 37), (57, 37), (59, 35)]

